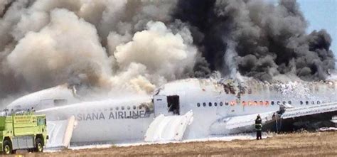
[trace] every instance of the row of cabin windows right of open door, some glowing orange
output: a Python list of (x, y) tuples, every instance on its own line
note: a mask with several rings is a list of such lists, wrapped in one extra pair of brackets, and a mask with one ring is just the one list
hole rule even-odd
[[(272, 105), (274, 105), (274, 104), (287, 104), (287, 102), (286, 101), (283, 101), (283, 102), (280, 102), (280, 101), (272, 101), (272, 102), (270, 102), (270, 104), (272, 104)], [(324, 102), (322, 102), (322, 103), (324, 103)], [(235, 104), (237, 104), (237, 102), (235, 102), (235, 101), (232, 101), (232, 102), (225, 102), (225, 106), (228, 106), (228, 105), (230, 105), (230, 106), (234, 106)], [(266, 105), (266, 106), (268, 106), (269, 105), (269, 101), (260, 101), (260, 102), (257, 102), (257, 101), (247, 101), (247, 102), (245, 102), (245, 101), (242, 101), (241, 102), (241, 104), (242, 105)], [(288, 104), (291, 104), (291, 101), (288, 101)], [(309, 102), (309, 101), (300, 101), (299, 102), (299, 104), (321, 104), (321, 102), (320, 101), (317, 101), (317, 102), (315, 102), (315, 101), (311, 101), (311, 102)], [(214, 103), (212, 103), (212, 102), (208, 102), (208, 106), (209, 107), (212, 107), (212, 106), (218, 106), (218, 103), (217, 102), (214, 102)], [(197, 107), (200, 107), (201, 106), (201, 104), (200, 103), (197, 103)], [(223, 106), (223, 102), (220, 102), (219, 103), (219, 106), (220, 107), (222, 107)], [(206, 103), (205, 102), (203, 102), (203, 107), (206, 107)]]

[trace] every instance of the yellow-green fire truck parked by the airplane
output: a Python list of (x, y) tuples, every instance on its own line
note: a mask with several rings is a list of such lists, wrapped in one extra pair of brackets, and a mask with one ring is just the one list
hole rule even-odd
[(48, 139), (46, 124), (46, 115), (33, 112), (1, 116), (0, 151), (5, 154), (19, 149), (42, 152)]

